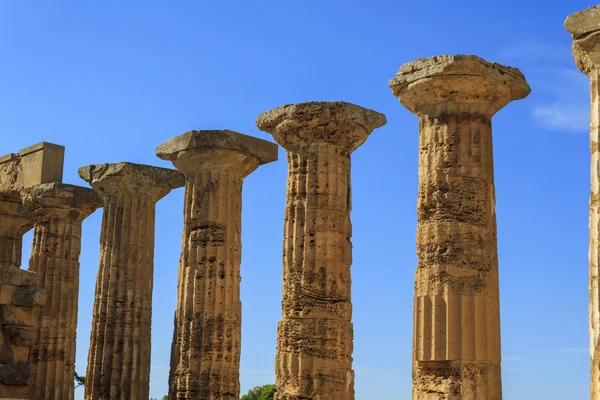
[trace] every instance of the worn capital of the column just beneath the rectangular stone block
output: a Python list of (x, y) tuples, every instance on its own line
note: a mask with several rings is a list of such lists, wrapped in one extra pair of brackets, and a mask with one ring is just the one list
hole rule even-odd
[(23, 203), (34, 214), (78, 212), (84, 220), (103, 206), (102, 198), (93, 189), (66, 183), (44, 183), (25, 190)]

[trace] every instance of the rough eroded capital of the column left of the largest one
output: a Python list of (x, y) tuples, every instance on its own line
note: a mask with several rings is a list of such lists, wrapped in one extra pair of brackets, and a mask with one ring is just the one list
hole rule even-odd
[(343, 101), (288, 104), (256, 119), (258, 129), (273, 135), (286, 150), (322, 143), (347, 154), (386, 122), (383, 114)]

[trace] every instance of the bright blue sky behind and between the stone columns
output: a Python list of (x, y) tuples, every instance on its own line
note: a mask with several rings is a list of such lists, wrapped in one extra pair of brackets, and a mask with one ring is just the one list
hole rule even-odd
[[(77, 168), (159, 166), (190, 129), (271, 140), (258, 114), (345, 100), (387, 116), (352, 159), (356, 398), (410, 399), (417, 118), (387, 86), (418, 57), (477, 54), (533, 91), (493, 120), (504, 397), (588, 396), (588, 80), (562, 24), (591, 1), (0, 2), (0, 153), (49, 141)], [(244, 185), (242, 390), (274, 381), (286, 163)], [(157, 205), (151, 395), (167, 393), (182, 189)], [(101, 211), (84, 222), (77, 371), (85, 373)], [(24, 245), (27, 263), (31, 233)], [(79, 389), (76, 397), (83, 398)]]

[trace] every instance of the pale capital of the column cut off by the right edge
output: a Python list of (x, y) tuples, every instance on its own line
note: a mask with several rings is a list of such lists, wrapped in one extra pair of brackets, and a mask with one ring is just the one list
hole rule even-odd
[(573, 57), (586, 75), (600, 68), (600, 6), (571, 14), (565, 29), (573, 38)]

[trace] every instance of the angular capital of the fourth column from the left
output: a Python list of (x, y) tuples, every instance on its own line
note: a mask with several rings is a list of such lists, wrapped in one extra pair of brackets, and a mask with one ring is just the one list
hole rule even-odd
[(225, 169), (247, 176), (259, 165), (277, 160), (277, 145), (230, 130), (193, 130), (162, 143), (156, 155), (186, 175)]

